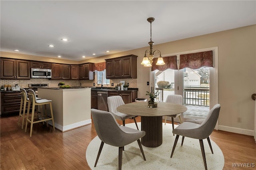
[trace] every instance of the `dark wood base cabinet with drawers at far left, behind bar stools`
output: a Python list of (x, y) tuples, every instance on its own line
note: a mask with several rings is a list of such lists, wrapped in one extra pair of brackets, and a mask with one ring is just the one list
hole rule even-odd
[(21, 93), (17, 92), (1, 92), (1, 116), (10, 113), (19, 113), (20, 111)]

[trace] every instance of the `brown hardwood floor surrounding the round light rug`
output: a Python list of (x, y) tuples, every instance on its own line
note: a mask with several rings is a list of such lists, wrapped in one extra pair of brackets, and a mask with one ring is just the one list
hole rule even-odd
[[(136, 120), (140, 122), (140, 117)], [(62, 133), (58, 130), (53, 131), (50, 125), (46, 127), (42, 123), (37, 123), (33, 127), (32, 137), (29, 137), (30, 125), (25, 133), (17, 122), (18, 116), (0, 119), (1, 170), (90, 169), (85, 153), (88, 144), (96, 136), (93, 124)], [(119, 121), (118, 123), (121, 124)], [(134, 121), (128, 120), (126, 123)], [(219, 130), (212, 132), (210, 138), (224, 154), (224, 170), (255, 169), (232, 167), (232, 163), (254, 163), (256, 166), (256, 144), (253, 136)]]

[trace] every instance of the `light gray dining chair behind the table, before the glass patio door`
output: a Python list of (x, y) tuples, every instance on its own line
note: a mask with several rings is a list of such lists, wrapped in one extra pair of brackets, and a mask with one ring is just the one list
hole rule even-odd
[[(183, 97), (182, 97), (182, 95), (168, 95), (165, 102), (182, 105)], [(174, 118), (179, 117), (180, 123), (182, 123), (181, 117), (180, 117), (181, 114), (182, 113), (179, 113), (179, 114), (176, 114), (176, 115), (168, 115), (168, 117), (172, 118), (172, 130), (174, 130)], [(165, 120), (164, 120), (164, 125), (166, 124), (166, 117), (165, 117)], [(173, 134), (173, 136), (174, 136), (174, 134)]]

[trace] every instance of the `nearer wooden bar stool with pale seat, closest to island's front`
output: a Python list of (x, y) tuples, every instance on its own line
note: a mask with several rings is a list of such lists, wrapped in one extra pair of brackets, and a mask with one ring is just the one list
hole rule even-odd
[[(28, 122), (31, 124), (31, 126), (30, 126), (30, 137), (31, 137), (32, 136), (32, 128), (33, 128), (33, 124), (34, 123), (40, 123), (40, 122), (46, 121), (47, 126), (48, 126), (48, 121), (50, 121), (50, 120), (52, 120), (53, 130), (55, 130), (54, 118), (53, 118), (53, 113), (52, 113), (52, 101), (51, 100), (47, 100), (47, 99), (36, 100), (36, 94), (31, 89), (28, 89), (28, 95), (29, 95), (28, 108), (32, 104), (32, 114), (31, 114), (31, 119), (27, 116), (25, 132), (27, 131)], [(46, 105), (47, 104), (50, 105), (50, 111), (51, 111), (51, 117), (50, 118), (48, 118), (48, 116), (47, 116), (47, 111), (46, 111)], [(44, 115), (42, 114), (42, 116), (41, 116), (42, 119), (41, 120), (34, 121), (35, 107), (38, 106), (38, 105), (40, 105), (40, 106), (44, 105)], [(28, 109), (27, 115), (28, 114), (29, 114), (29, 109)]]

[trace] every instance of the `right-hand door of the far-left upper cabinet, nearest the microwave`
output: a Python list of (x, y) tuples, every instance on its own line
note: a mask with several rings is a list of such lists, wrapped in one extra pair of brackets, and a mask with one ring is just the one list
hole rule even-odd
[(30, 79), (30, 61), (16, 60), (16, 79)]

